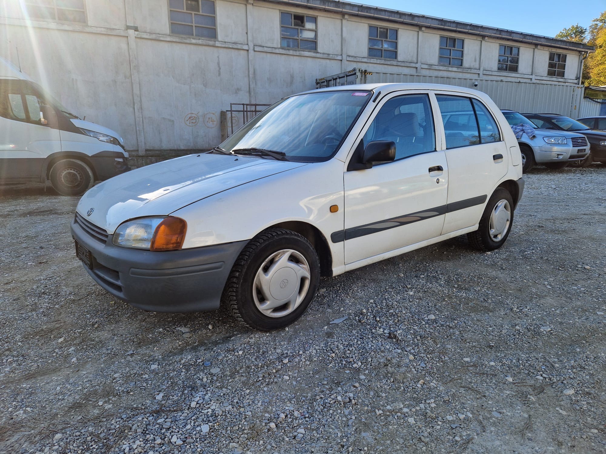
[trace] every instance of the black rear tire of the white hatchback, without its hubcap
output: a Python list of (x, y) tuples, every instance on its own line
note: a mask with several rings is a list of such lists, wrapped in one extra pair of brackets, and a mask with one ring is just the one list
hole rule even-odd
[[(504, 231), (502, 231), (500, 236), (495, 236), (491, 234), (491, 216), (499, 205), (501, 205), (501, 209), (508, 211), (508, 220), (506, 220), (507, 215), (499, 211), (501, 214), (496, 219), (498, 223), (496, 230), (498, 231), (499, 228), (504, 227)], [(511, 232), (511, 226), (513, 226), (513, 199), (511, 199), (511, 194), (507, 189), (496, 188), (490, 199), (488, 199), (479, 222), (478, 230), (468, 233), (467, 238), (471, 246), (479, 251), (494, 251), (494, 249), (498, 249), (504, 245)]]

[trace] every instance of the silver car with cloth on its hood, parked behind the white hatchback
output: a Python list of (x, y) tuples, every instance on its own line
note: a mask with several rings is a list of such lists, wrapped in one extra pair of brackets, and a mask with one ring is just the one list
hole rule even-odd
[(589, 154), (589, 143), (585, 136), (567, 131), (545, 130), (532, 120), (513, 110), (501, 110), (511, 126), (530, 125), (534, 128), (534, 137), (522, 134), (518, 139), (522, 153), (522, 169), (530, 171), (536, 164), (548, 169), (563, 169), (576, 160), (583, 160)]

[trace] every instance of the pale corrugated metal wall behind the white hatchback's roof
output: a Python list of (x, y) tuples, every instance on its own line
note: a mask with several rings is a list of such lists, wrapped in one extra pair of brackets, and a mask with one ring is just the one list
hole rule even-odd
[[(559, 113), (573, 118), (579, 117), (579, 100), (582, 87), (564, 84), (542, 84), (540, 82), (504, 82), (461, 77), (419, 76), (416, 74), (372, 73), (367, 76), (369, 84), (388, 82), (417, 82), (427, 84), (457, 85), (475, 88), (488, 94), (502, 109), (532, 113)], [(474, 87), (474, 82), (478, 87)]]

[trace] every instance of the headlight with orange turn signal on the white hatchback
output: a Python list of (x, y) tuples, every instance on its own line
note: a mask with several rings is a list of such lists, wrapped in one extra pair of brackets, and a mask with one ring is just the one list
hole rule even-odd
[(142, 217), (118, 226), (113, 243), (125, 248), (148, 251), (175, 251), (181, 249), (187, 223), (180, 217)]

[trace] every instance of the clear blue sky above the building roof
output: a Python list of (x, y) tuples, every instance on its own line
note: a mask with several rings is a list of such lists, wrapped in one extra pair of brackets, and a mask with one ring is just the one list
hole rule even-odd
[[(353, 0), (367, 5), (419, 13), (474, 24), (491, 25), (534, 35), (554, 36), (564, 27), (588, 27), (606, 10), (606, 0)], [(463, 6), (464, 5), (464, 6)]]

